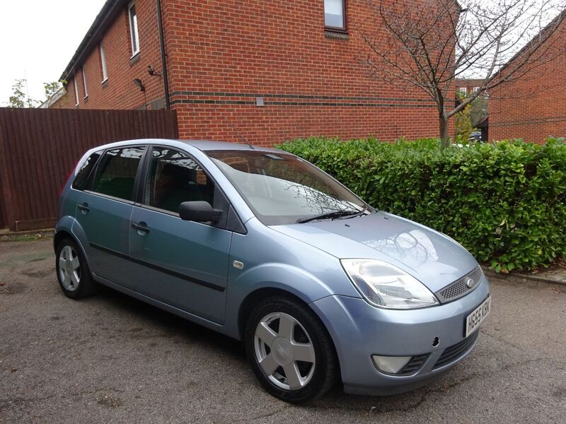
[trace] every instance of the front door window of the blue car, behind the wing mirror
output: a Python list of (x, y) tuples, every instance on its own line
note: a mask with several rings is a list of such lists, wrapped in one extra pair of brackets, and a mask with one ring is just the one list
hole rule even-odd
[(144, 193), (144, 204), (178, 213), (184, 201), (204, 200), (214, 205), (214, 182), (185, 153), (154, 147)]

